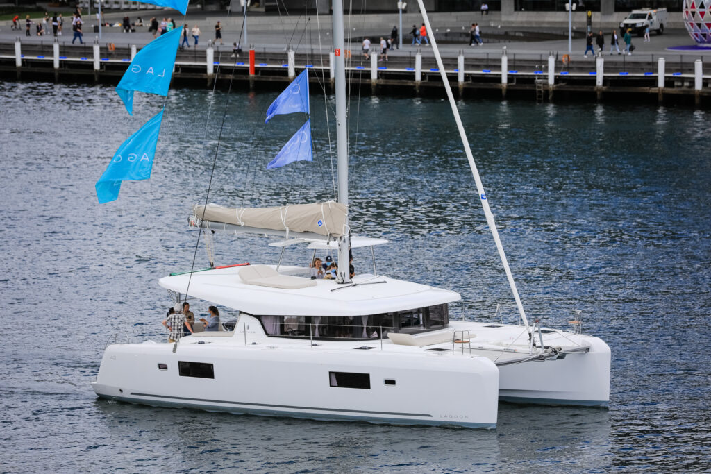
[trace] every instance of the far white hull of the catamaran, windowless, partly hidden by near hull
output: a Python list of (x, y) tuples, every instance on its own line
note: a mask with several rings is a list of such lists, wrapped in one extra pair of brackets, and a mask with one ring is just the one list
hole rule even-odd
[(585, 340), (590, 343), (587, 352), (499, 367), (499, 399), (522, 404), (607, 406), (610, 348), (599, 338)]

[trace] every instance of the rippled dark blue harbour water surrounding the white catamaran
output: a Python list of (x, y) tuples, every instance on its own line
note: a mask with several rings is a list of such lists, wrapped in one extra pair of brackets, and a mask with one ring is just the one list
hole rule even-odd
[[(303, 123), (263, 126), (273, 97), (230, 95), (210, 200), (333, 196), (333, 104), (311, 102), (316, 161), (266, 172)], [(172, 91), (151, 180), (124, 183), (107, 205), (94, 183), (158, 99), (137, 97), (134, 119), (106, 87), (0, 82), (0, 99), (0, 470), (710, 469), (708, 112), (460, 104), (528, 313), (565, 327), (581, 309), (584, 330), (613, 355), (609, 410), (502, 405), (495, 431), (469, 431), (97, 401), (90, 382), (107, 342), (159, 337), (169, 300), (156, 279), (191, 266), (188, 207), (205, 199), (225, 94)], [(378, 249), (378, 269), (459, 291), (455, 317), (492, 318), (501, 303), (515, 321), (448, 104), (353, 99), (351, 117), (355, 233), (393, 242)], [(272, 262), (267, 242), (218, 235), (217, 262)], [(448, 396), (443, 388), (442, 404)]]

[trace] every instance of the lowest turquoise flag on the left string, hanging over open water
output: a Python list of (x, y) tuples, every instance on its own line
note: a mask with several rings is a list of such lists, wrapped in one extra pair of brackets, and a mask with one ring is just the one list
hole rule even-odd
[(119, 146), (111, 163), (96, 183), (96, 195), (100, 204), (119, 197), (121, 181), (139, 181), (151, 177), (162, 119), (161, 110)]

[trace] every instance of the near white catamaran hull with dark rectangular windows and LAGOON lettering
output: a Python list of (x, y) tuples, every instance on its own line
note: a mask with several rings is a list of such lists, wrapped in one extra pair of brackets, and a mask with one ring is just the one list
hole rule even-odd
[[(498, 369), (484, 357), (208, 344), (172, 350), (172, 344), (109, 346), (95, 392), (121, 402), (233, 414), (496, 427)], [(214, 378), (181, 375), (178, 362), (211, 365)], [(333, 387), (343, 373), (359, 374), (346, 376), (345, 384), (361, 387)]]

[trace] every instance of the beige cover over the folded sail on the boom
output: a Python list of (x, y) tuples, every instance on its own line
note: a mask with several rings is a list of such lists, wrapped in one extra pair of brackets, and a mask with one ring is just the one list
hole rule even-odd
[(346, 232), (348, 206), (336, 201), (286, 205), (279, 208), (224, 208), (208, 204), (193, 206), (196, 220), (290, 232), (314, 232), (341, 237)]

